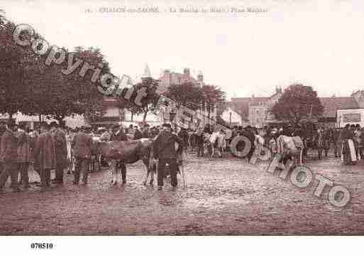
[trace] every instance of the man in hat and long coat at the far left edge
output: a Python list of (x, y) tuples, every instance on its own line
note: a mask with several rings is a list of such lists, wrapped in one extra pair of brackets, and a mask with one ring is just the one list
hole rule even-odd
[(3, 171), (0, 174), (0, 192), (3, 192), (6, 180), (11, 178), (11, 188), (13, 192), (21, 191), (18, 188), (18, 139), (16, 137), (16, 126), (13, 121), (9, 121), (6, 131), (1, 136), (0, 163)]

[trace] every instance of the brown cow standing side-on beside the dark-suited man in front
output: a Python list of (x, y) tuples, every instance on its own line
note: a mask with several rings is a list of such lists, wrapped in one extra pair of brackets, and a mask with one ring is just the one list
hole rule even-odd
[(144, 185), (150, 175), (150, 185), (153, 185), (155, 161), (153, 159), (153, 139), (137, 139), (128, 141), (99, 141), (98, 150), (101, 156), (111, 161), (111, 185), (118, 183), (118, 170), (121, 168), (123, 184), (126, 183), (126, 164), (142, 161), (147, 173)]

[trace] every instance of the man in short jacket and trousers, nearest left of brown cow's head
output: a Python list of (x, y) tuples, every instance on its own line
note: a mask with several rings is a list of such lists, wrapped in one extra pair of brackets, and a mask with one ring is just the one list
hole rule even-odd
[(79, 175), (83, 169), (82, 182), (87, 184), (87, 178), (89, 176), (89, 161), (91, 160), (92, 153), (92, 136), (85, 133), (84, 130), (79, 130), (75, 136), (71, 146), (75, 153), (75, 180), (73, 184), (79, 184)]

